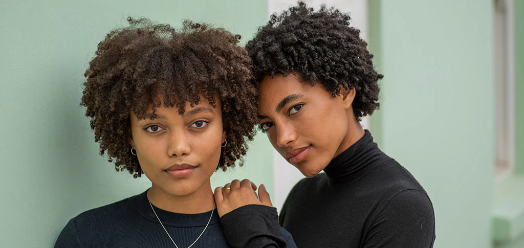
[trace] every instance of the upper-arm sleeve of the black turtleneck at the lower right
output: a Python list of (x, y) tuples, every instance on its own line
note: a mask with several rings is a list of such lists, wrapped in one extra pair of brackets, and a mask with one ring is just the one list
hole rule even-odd
[(435, 217), (423, 190), (400, 192), (372, 223), (363, 247), (433, 247)]

